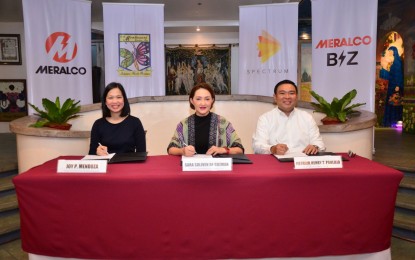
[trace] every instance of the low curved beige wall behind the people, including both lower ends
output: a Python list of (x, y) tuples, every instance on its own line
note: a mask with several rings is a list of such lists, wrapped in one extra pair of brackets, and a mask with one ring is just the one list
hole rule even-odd
[[(233, 124), (242, 139), (246, 153), (251, 154), (253, 153), (252, 134), (255, 131), (258, 117), (273, 108), (274, 105), (270, 102), (223, 100), (215, 102), (213, 111), (226, 117)], [(321, 124), (321, 114), (312, 113), (308, 109), (304, 110), (311, 113), (316, 122)], [(131, 114), (139, 117), (147, 130), (147, 150), (150, 156), (167, 154), (166, 148), (177, 123), (192, 113), (194, 111), (189, 108), (187, 100), (131, 104)], [(19, 172), (58, 156), (87, 154), (88, 134), (93, 122), (99, 117), (101, 117), (99, 104), (93, 105), (92, 111), (83, 112), (82, 117), (71, 122), (73, 124), (71, 131), (60, 131), (61, 137), (54, 137), (53, 133), (48, 133), (46, 136), (26, 135), (25, 130), (21, 129), (21, 133), (17, 134)], [(26, 126), (23, 128), (27, 129)], [(87, 134), (84, 135), (85, 137), (79, 137), (75, 134), (76, 131), (84, 131)], [(322, 132), (322, 137), (328, 151), (352, 150), (360, 156), (372, 159), (373, 124), (354, 131)]]

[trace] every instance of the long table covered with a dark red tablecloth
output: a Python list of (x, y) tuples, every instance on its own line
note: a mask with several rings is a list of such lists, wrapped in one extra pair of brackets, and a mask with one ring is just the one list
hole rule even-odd
[(218, 259), (364, 254), (390, 247), (403, 174), (363, 157), (295, 170), (271, 155), (232, 172), (182, 172), (178, 156), (16, 176), (23, 250), (76, 258)]

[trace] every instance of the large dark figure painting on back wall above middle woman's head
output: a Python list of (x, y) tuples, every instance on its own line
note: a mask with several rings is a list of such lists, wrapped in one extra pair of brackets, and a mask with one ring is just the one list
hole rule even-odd
[(167, 47), (166, 95), (188, 95), (206, 82), (215, 94), (231, 94), (231, 47)]

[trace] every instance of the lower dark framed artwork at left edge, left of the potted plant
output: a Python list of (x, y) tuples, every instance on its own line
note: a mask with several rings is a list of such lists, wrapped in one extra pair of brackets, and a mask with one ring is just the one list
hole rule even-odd
[(24, 79), (0, 80), (0, 122), (27, 116), (27, 92)]

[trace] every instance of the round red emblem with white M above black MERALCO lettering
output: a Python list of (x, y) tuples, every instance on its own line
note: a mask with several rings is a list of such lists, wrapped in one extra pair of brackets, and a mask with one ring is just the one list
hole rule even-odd
[(73, 60), (78, 51), (78, 45), (65, 32), (52, 33), (45, 43), (46, 52), (53, 55), (53, 60), (66, 63)]

